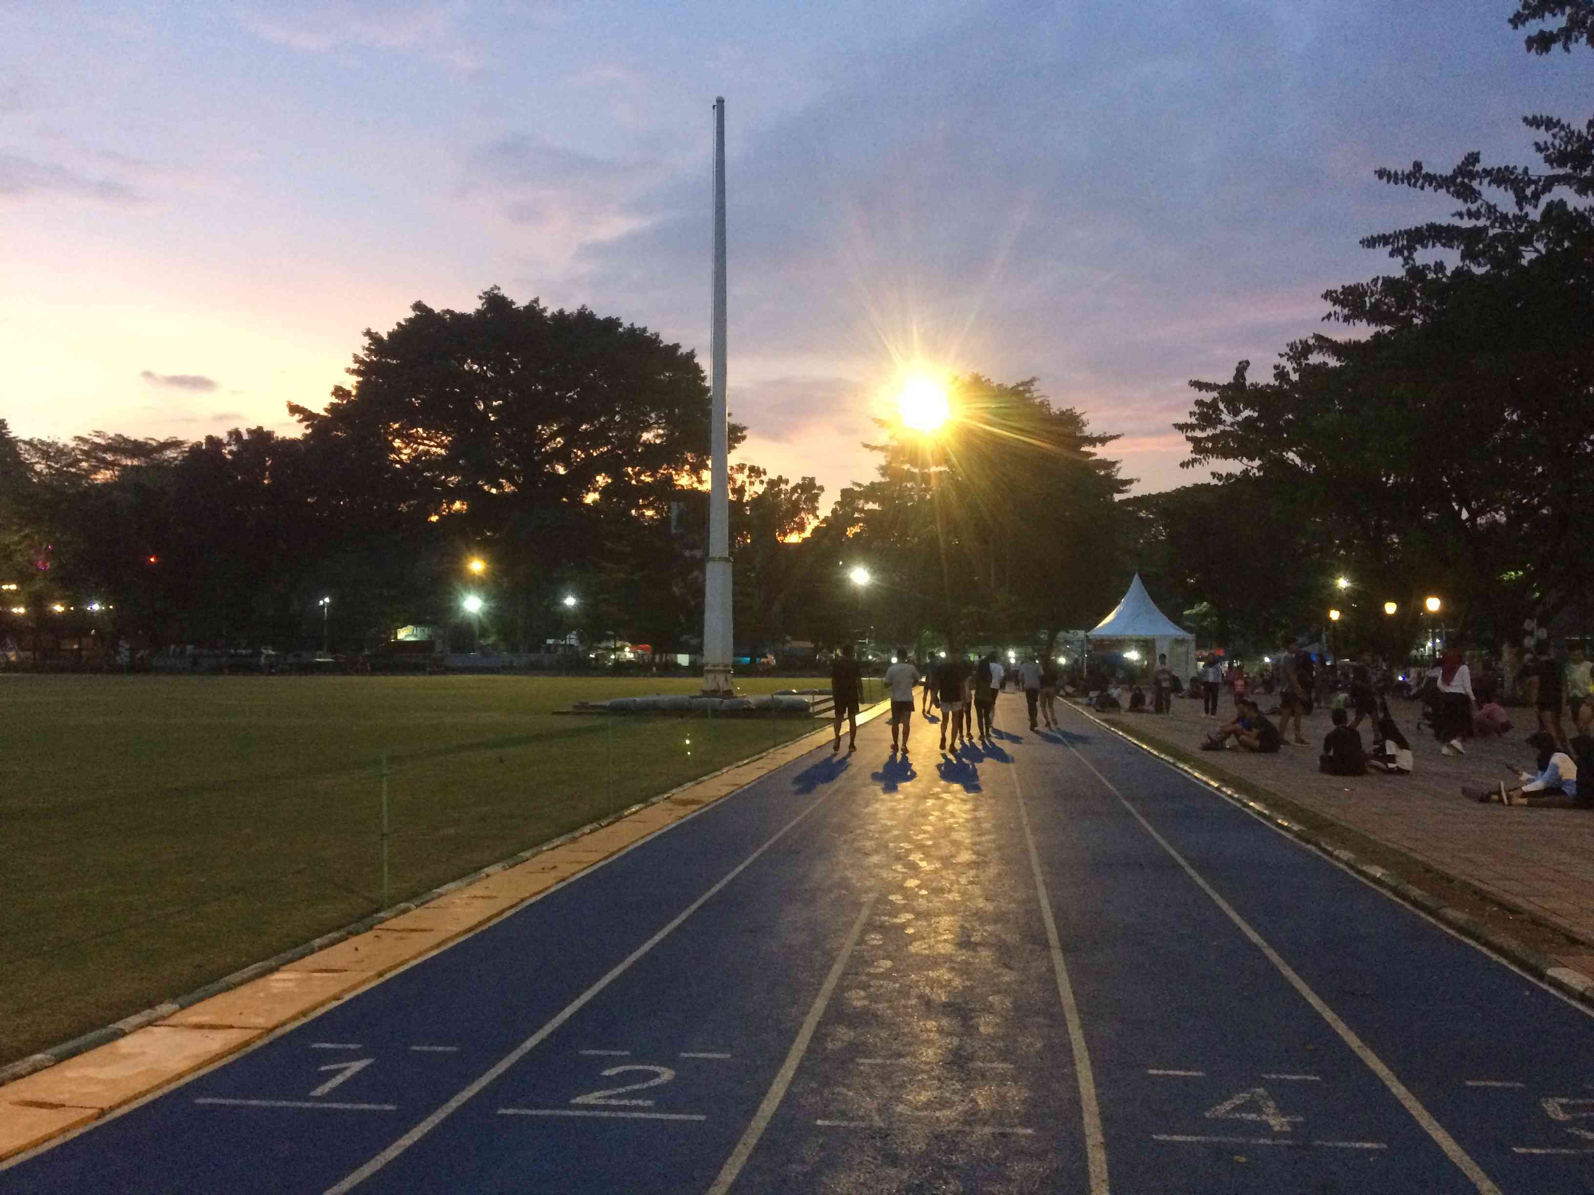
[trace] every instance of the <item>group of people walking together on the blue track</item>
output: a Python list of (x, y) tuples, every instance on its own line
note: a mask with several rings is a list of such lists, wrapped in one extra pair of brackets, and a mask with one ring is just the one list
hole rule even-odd
[[(909, 735), (913, 723), (915, 690), (923, 692), (923, 714), (929, 717), (931, 706), (940, 709), (940, 750), (960, 750), (972, 746), (976, 736), (988, 742), (996, 731), (996, 695), (1014, 680), (1023, 690), (1030, 715), (1030, 730), (1057, 728), (1057, 668), (1039, 655), (1009, 668), (995, 652), (979, 660), (940, 656), (915, 664), (905, 647), (897, 648), (896, 663), (885, 672), (885, 685), (891, 695), (891, 750), (909, 754)], [(858, 750), (858, 709), (862, 699), (862, 676), (853, 645), (846, 644), (837, 653), (830, 668), (830, 696), (834, 701), (835, 741), (830, 754), (842, 750), (842, 723), (850, 723), (848, 752)]]

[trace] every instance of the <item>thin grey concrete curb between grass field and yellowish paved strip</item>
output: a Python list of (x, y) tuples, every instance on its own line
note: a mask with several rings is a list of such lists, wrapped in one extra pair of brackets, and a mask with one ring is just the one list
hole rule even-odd
[[(858, 722), (862, 723), (866, 720), (874, 720), (888, 707), (889, 701), (878, 701), (874, 706), (859, 711)], [(298, 946), (292, 946), (282, 951), (281, 954), (273, 954), (269, 959), (265, 959), (261, 962), (253, 962), (241, 970), (234, 970), (231, 975), (223, 975), (222, 978), (214, 980), (212, 983), (207, 983), (202, 988), (194, 988), (193, 991), (183, 993), (182, 996), (174, 996), (172, 999), (163, 1001), (155, 1007), (143, 1009), (142, 1012), (135, 1012), (131, 1017), (123, 1017), (120, 1021), (105, 1025), (99, 1029), (91, 1029), (86, 1034), (61, 1042), (59, 1045), (53, 1045), (48, 1050), (40, 1050), (38, 1053), (29, 1055), (27, 1058), (19, 1058), (14, 1063), (0, 1066), (0, 1087), (5, 1087), (6, 1083), (16, 1079), (24, 1079), (30, 1074), (37, 1074), (38, 1071), (45, 1071), (51, 1066), (56, 1066), (57, 1063), (64, 1063), (69, 1058), (78, 1056), (80, 1053), (86, 1053), (100, 1045), (107, 1045), (108, 1042), (115, 1042), (120, 1037), (126, 1037), (129, 1032), (134, 1032), (135, 1029), (142, 1029), (147, 1025), (166, 1020), (167, 1017), (172, 1017), (174, 1013), (179, 1013), (183, 1009), (193, 1007), (201, 1001), (207, 1001), (212, 996), (220, 996), (222, 993), (241, 988), (252, 980), (258, 980), (261, 975), (269, 975), (274, 970), (281, 970), (290, 962), (298, 962), (300, 959), (316, 954), (317, 951), (322, 951), (327, 946), (333, 946), (340, 942), (344, 942), (346, 938), (365, 934), (367, 931), (375, 929), (384, 921), (392, 921), (394, 918), (403, 916), (405, 913), (413, 913), (416, 908), (429, 905), (434, 900), (448, 895), (450, 892), (457, 892), (459, 889), (469, 887), (470, 884), (486, 880), (488, 876), (494, 876), (499, 872), (518, 867), (520, 864), (524, 864), (528, 859), (544, 854), (545, 851), (552, 851), (556, 846), (564, 846), (566, 843), (571, 843), (577, 838), (583, 838), (590, 833), (603, 830), (607, 825), (614, 825), (615, 822), (623, 821), (631, 814), (646, 809), (652, 805), (666, 801), (671, 797), (685, 792), (687, 789), (695, 789), (697, 786), (713, 781), (717, 776), (724, 776), (728, 771), (735, 771), (736, 768), (744, 768), (749, 763), (757, 763), (759, 760), (773, 755), (775, 752), (795, 747), (802, 744), (805, 739), (829, 736), (830, 733), (832, 733), (830, 727), (824, 725), (808, 731), (807, 735), (799, 735), (797, 738), (787, 739), (786, 742), (778, 742), (773, 747), (767, 747), (760, 752), (748, 755), (746, 758), (736, 760), (735, 763), (727, 763), (724, 768), (705, 773), (703, 776), (695, 776), (685, 784), (677, 784), (674, 789), (669, 789), (668, 792), (662, 792), (657, 797), (649, 797), (646, 801), (636, 801), (634, 805), (628, 805), (623, 809), (599, 817), (595, 822), (588, 822), (587, 825), (580, 825), (574, 830), (569, 830), (567, 833), (561, 833), (558, 838), (550, 838), (545, 843), (539, 843), (537, 846), (531, 846), (524, 851), (512, 854), (508, 859), (501, 859), (496, 864), (488, 864), (486, 867), (470, 872), (469, 875), (464, 875), (459, 880), (451, 880), (446, 884), (434, 887), (430, 892), (422, 892), (418, 897), (411, 897), (410, 900), (403, 900), (378, 913), (370, 913), (360, 918), (359, 921), (343, 926), (341, 929), (335, 929), (330, 934), (322, 934), (319, 938), (304, 942)], [(811, 749), (813, 747), (807, 747), (805, 752)], [(784, 763), (776, 766), (784, 766)], [(773, 771), (773, 768), (770, 768), (770, 771)], [(752, 781), (748, 782), (751, 784)]]

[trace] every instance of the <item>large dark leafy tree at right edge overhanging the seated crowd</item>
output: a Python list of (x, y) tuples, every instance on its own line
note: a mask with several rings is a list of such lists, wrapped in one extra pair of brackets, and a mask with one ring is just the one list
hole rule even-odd
[[(1586, 3), (1524, 3), (1511, 24), (1564, 16), (1545, 53), (1588, 40)], [(1449, 172), (1414, 163), (1384, 182), (1436, 190), (1449, 221), (1363, 239), (1400, 272), (1325, 293), (1364, 330), (1280, 354), (1269, 382), (1242, 362), (1202, 394), (1189, 465), (1262, 483), (1270, 502), (1331, 513), (1334, 554), (1409, 602), (1444, 583), (1462, 621), (1497, 633), (1551, 615), (1588, 585), (1594, 478), (1594, 121), (1527, 116), (1545, 169)]]

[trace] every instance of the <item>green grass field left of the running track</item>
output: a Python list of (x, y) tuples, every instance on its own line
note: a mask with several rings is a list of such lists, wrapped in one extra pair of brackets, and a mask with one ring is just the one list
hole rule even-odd
[[(818, 682), (740, 682), (770, 692)], [(558, 717), (692, 679), (0, 677), (0, 1063), (815, 728)]]

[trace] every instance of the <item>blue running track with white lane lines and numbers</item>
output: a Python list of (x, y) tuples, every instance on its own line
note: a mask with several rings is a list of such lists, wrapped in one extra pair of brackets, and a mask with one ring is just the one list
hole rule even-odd
[(1594, 1018), (1063, 719), (874, 722), (0, 1193), (1594, 1192)]

